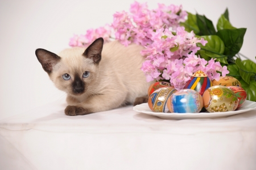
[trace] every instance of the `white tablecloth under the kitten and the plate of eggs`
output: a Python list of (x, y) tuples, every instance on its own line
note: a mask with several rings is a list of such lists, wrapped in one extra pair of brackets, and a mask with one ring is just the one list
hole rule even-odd
[(65, 102), (0, 121), (0, 169), (256, 169), (256, 111), (166, 120), (132, 106), (69, 117)]

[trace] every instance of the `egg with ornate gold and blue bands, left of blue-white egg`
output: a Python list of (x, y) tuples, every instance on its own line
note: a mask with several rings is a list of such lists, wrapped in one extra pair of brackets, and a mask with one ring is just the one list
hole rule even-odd
[(168, 107), (166, 105), (167, 99), (171, 96), (172, 93), (175, 93), (177, 90), (172, 87), (160, 88), (155, 90), (148, 97), (148, 106), (152, 111), (155, 112), (168, 112)]

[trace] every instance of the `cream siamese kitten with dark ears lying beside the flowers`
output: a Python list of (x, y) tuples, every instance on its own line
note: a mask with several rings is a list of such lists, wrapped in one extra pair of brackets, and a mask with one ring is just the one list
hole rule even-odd
[(65, 114), (84, 115), (147, 102), (152, 82), (146, 82), (140, 70), (142, 49), (117, 41), (103, 45), (98, 38), (86, 49), (64, 49), (59, 55), (36, 49), (35, 53), (55, 86), (67, 93)]

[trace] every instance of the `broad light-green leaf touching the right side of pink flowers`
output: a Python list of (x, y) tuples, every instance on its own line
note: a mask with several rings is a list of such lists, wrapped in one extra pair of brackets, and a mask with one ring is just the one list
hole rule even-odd
[[(201, 49), (199, 50), (199, 55), (205, 60), (210, 58), (216, 58), (217, 61), (221, 63), (228, 64), (226, 61), (227, 57), (223, 55), (225, 45), (222, 40), (217, 35), (207, 35), (207, 36), (196, 36), (197, 38), (204, 38), (208, 43), (203, 46), (200, 43), (197, 43)], [(204, 51), (204, 52), (203, 52)]]

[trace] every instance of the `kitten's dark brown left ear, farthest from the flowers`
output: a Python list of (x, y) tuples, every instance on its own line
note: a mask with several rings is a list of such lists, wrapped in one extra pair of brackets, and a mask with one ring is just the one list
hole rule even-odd
[(48, 74), (52, 72), (53, 67), (60, 61), (60, 57), (55, 53), (49, 52), (46, 49), (36, 49), (36, 57), (38, 61), (42, 64), (44, 71)]

